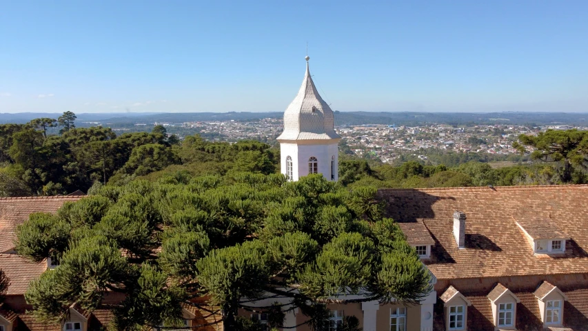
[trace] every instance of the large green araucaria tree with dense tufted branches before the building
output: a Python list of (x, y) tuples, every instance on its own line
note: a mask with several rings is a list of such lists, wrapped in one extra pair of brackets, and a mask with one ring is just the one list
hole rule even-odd
[[(162, 177), (156, 183), (106, 185), (57, 215), (33, 214), (17, 233), (17, 251), (60, 265), (32, 281), (26, 300), (37, 318), (59, 321), (72, 303), (92, 311), (106, 292), (123, 292), (112, 327), (179, 325), (181, 305), (206, 298), (225, 330), (250, 323), (237, 316), (251, 301), (278, 294), (272, 325), (299, 308), (323, 330), (325, 304), (417, 303), (430, 275), (376, 191), (349, 191), (311, 175)], [(356, 329), (347, 319), (345, 330)]]

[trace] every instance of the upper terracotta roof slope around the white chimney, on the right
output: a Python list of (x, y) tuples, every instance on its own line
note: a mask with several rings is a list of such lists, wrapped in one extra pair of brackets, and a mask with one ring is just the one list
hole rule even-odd
[[(435, 245), (425, 264), (437, 279), (588, 272), (588, 185), (382, 189), (386, 216), (423, 221)], [(465, 249), (453, 214), (464, 212)], [(558, 256), (536, 256), (514, 219), (550, 218), (571, 240)], [(514, 218), (514, 219), (513, 219)]]

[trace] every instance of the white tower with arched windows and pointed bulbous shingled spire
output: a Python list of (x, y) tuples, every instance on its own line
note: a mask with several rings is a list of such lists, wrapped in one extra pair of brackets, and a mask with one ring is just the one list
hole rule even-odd
[(314, 86), (308, 60), (306, 74), (296, 98), (284, 112), (284, 132), (280, 143), (282, 173), (297, 181), (307, 174), (323, 174), (330, 180), (339, 178), (338, 142), (333, 111)]

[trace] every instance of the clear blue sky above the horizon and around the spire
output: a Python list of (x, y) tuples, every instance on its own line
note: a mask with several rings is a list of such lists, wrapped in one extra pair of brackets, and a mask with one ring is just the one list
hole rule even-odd
[(0, 0), (1, 112), (588, 112), (588, 1)]

